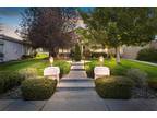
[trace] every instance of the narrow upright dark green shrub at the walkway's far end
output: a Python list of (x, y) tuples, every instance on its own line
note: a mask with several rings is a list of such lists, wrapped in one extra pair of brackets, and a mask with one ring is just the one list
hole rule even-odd
[(74, 51), (74, 60), (81, 61), (81, 59), (82, 59), (81, 47), (78, 44), (76, 44), (75, 45), (75, 51)]

